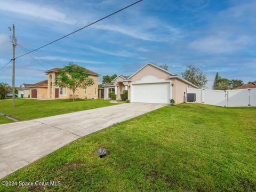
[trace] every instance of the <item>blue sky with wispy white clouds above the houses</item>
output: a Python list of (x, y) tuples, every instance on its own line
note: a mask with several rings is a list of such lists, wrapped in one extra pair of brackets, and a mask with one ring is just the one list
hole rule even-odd
[[(0, 67), (12, 58), (7, 27), (13, 22), (18, 43), (33, 50), (133, 2), (59, 0), (33, 22), (53, 0), (0, 0)], [(84, 66), (99, 73), (100, 81), (103, 75), (130, 75), (153, 62), (166, 63), (178, 75), (195, 65), (207, 75), (208, 87), (217, 71), (247, 83), (256, 80), (255, 18), (256, 1), (143, 0), (35, 54), (58, 67)], [(17, 47), (16, 55), (22, 53)], [(28, 55), (17, 59), (15, 84), (46, 79), (44, 67)], [(0, 82), (11, 84), (11, 74), (8, 65), (0, 71)]]

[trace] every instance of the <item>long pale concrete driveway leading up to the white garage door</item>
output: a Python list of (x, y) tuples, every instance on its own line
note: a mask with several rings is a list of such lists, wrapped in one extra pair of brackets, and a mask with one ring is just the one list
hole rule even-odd
[(163, 106), (125, 103), (0, 125), (0, 178), (80, 137)]

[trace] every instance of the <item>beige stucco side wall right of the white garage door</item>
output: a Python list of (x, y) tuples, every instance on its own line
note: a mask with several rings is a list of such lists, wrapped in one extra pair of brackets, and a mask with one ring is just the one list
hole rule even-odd
[(175, 103), (182, 103), (185, 101), (184, 92), (185, 92), (185, 95), (187, 95), (187, 88), (196, 88), (196, 87), (191, 86), (185, 82), (180, 81), (177, 78), (173, 78), (172, 83), (173, 83), (172, 99), (175, 100)]

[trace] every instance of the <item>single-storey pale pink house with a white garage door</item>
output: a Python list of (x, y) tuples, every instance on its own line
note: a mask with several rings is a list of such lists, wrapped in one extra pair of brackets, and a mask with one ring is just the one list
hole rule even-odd
[(104, 99), (108, 99), (108, 93), (113, 92), (119, 100), (123, 90), (128, 90), (128, 99), (131, 102), (145, 103), (170, 103), (170, 99), (181, 103), (185, 101), (187, 87), (198, 88), (186, 79), (152, 63), (143, 66), (131, 76), (119, 75), (102, 87)]

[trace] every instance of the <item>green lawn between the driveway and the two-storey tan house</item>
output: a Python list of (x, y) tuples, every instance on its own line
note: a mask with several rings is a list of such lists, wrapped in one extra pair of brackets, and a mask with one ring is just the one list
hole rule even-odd
[(16, 107), (13, 108), (11, 100), (0, 101), (0, 112), (20, 121), (116, 105), (115, 103), (110, 103), (110, 101), (103, 99), (78, 99), (75, 102), (69, 99), (44, 101), (36, 99), (19, 99), (15, 102)]

